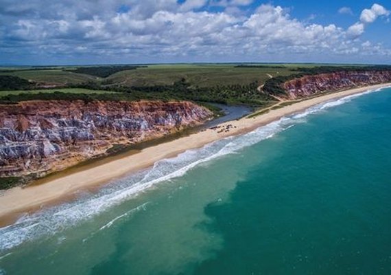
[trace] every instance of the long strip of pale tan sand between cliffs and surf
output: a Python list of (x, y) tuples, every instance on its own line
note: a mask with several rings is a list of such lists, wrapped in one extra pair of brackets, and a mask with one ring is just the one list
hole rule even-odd
[[(64, 177), (55, 178), (43, 184), (24, 188), (14, 187), (5, 190), (3, 195), (0, 196), (0, 227), (14, 223), (25, 212), (34, 212), (45, 206), (68, 201), (69, 199), (73, 199), (77, 195), (76, 192), (80, 190), (93, 190), (102, 187), (112, 180), (153, 166), (158, 160), (175, 157), (184, 151), (200, 148), (216, 140), (221, 140), (224, 137), (248, 133), (260, 126), (279, 120), (285, 115), (298, 113), (322, 102), (351, 96), (353, 94), (362, 94), (371, 89), (390, 87), (390, 85), (391, 83), (386, 83), (337, 91), (294, 102), (279, 109), (269, 108), (270, 111), (267, 113), (257, 115), (253, 118), (245, 117), (240, 120), (219, 124), (220, 126), (224, 126), (224, 128), (228, 124), (232, 125), (230, 131), (218, 131), (218, 129), (198, 131), (197, 133), (192, 133), (176, 140), (144, 148), (138, 153), (126, 157), (64, 175)], [(254, 113), (257, 113), (257, 111)]]

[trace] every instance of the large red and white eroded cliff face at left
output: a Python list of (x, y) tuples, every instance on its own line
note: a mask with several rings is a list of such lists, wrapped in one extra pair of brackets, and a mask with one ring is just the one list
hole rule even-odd
[(29, 101), (0, 105), (0, 177), (45, 175), (204, 122), (191, 102)]

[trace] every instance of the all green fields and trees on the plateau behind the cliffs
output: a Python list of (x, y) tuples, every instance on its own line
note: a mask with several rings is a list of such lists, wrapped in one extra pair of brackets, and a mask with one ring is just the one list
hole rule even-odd
[(0, 93), (0, 100), (8, 104), (33, 99), (191, 100), (266, 107), (276, 102), (272, 96), (285, 95), (281, 85), (287, 80), (379, 69), (391, 66), (244, 63), (14, 67), (0, 70), (0, 89), (6, 90)]

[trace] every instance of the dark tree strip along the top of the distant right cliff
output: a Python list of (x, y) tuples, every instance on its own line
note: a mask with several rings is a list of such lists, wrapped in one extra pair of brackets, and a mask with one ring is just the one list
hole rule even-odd
[(313, 76), (316, 74), (331, 74), (335, 72), (376, 72), (376, 71), (389, 71), (390, 65), (373, 65), (373, 66), (319, 66), (319, 67), (298, 67), (292, 69), (292, 72), (298, 72), (298, 74), (291, 74), (289, 76), (277, 76), (266, 80), (263, 85), (263, 91), (267, 94), (275, 96), (281, 96), (286, 94), (283, 89), (283, 83), (292, 80), (294, 78), (301, 78), (303, 76)]

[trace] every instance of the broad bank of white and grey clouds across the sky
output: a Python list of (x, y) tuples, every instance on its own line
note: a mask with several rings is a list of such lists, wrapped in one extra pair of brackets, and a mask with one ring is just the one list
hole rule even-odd
[[(294, 19), (289, 10), (278, 5), (260, 5), (246, 15), (237, 6), (252, 3), (249, 0), (209, 1), (226, 8), (218, 13), (196, 11), (206, 0), (187, 0), (182, 4), (176, 0), (143, 0), (142, 3), (97, 0), (95, 4), (76, 0), (30, 0), (29, 5), (22, 0), (0, 1), (7, 3), (0, 7), (4, 15), (3, 19), (0, 17), (0, 50), (4, 53), (20, 51), (34, 56), (68, 58), (88, 54), (101, 58), (111, 56), (128, 63), (226, 61), (226, 58), (237, 61), (268, 58), (273, 61), (327, 58), (325, 61), (331, 61), (329, 58), (334, 58), (340, 61), (341, 56), (365, 55), (366, 52), (390, 56), (390, 51), (381, 45), (376, 45), (374, 52), (357, 39), (367, 24), (362, 21), (344, 30), (335, 24)], [(121, 5), (128, 8), (119, 11)], [(370, 10), (375, 17), (386, 16), (388, 11), (381, 8), (373, 5)], [(10, 9), (12, 13), (4, 12)], [(367, 13), (364, 12), (363, 19), (366, 22), (372, 18), (367, 17)]]

